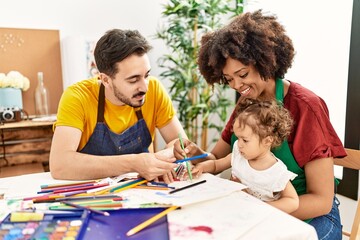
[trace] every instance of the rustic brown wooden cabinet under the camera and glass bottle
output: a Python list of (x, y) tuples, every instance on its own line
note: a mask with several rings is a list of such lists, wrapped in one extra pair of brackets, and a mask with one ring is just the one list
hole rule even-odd
[(0, 125), (0, 167), (41, 163), (48, 168), (53, 122), (21, 122)]

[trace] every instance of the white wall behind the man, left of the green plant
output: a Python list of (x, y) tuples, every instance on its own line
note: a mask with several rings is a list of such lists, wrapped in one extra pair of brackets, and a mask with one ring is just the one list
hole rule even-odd
[[(161, 0), (11, 0), (1, 1), (0, 27), (58, 29), (60, 39), (98, 40), (107, 30), (112, 28), (137, 29), (154, 46), (150, 52), (152, 73), (157, 75), (156, 59), (165, 47), (155, 34), (161, 18)], [(45, 40), (45, 39), (44, 39)], [(62, 45), (63, 59), (73, 60), (78, 57), (69, 56)], [(74, 49), (72, 49), (74, 50)], [(63, 78), (65, 87), (86, 78), (76, 74), (72, 63), (63, 62)], [(79, 63), (81, 64), (81, 63)], [(81, 69), (81, 68), (80, 68)], [(69, 73), (72, 73), (69, 75)]]

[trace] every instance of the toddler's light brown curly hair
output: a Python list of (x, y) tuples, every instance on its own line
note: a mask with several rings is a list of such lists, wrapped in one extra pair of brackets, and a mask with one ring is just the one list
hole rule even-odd
[(280, 146), (293, 126), (290, 112), (275, 100), (245, 98), (238, 102), (236, 113), (234, 121), (238, 121), (240, 128), (249, 126), (254, 134), (259, 135), (260, 140), (267, 136), (273, 137), (271, 148)]

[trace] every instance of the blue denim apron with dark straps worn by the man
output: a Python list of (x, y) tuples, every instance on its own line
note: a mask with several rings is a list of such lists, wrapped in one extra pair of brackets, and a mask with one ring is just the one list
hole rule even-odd
[(81, 153), (91, 155), (121, 155), (149, 152), (151, 135), (141, 109), (135, 111), (138, 121), (124, 132), (117, 134), (104, 123), (105, 87), (101, 84), (97, 123), (93, 134)]

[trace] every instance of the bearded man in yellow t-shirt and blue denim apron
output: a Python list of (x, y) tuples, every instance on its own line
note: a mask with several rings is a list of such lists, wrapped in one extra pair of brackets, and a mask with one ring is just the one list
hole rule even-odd
[[(186, 134), (164, 87), (149, 76), (150, 49), (131, 30), (110, 30), (97, 42), (98, 77), (70, 86), (60, 99), (50, 151), (54, 178), (138, 172), (148, 180), (163, 176), (172, 181), (177, 165), (171, 146), (178, 134)], [(156, 128), (169, 148), (153, 153)]]

